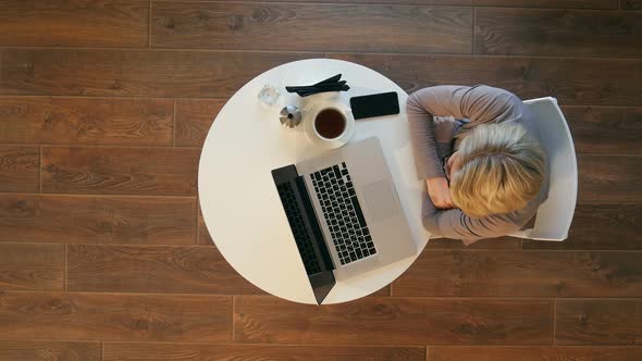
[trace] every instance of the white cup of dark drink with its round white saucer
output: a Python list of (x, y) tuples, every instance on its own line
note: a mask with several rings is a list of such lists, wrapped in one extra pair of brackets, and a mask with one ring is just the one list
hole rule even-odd
[(308, 139), (325, 149), (345, 146), (355, 134), (353, 111), (338, 99), (317, 100), (304, 109)]

